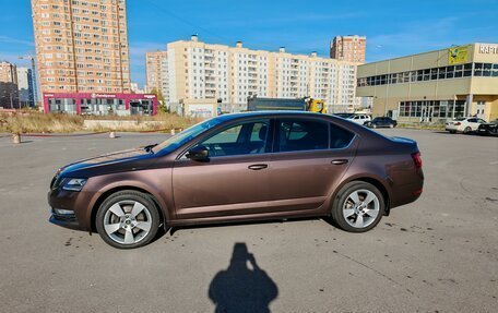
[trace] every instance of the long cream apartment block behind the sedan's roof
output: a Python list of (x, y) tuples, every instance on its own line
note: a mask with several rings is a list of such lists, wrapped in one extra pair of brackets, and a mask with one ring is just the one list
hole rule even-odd
[(216, 99), (224, 111), (247, 109), (250, 96), (323, 99), (329, 112), (353, 111), (356, 63), (278, 51), (179, 40), (167, 45), (169, 103)]

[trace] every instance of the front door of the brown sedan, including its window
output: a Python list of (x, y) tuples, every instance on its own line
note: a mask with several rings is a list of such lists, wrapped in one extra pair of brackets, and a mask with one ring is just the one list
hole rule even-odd
[(260, 213), (269, 200), (270, 119), (237, 122), (201, 139), (205, 161), (185, 154), (173, 169), (177, 218)]

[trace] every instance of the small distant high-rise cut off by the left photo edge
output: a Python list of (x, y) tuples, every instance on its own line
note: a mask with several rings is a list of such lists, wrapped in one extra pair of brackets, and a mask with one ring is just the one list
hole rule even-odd
[(19, 108), (17, 71), (9, 62), (0, 62), (0, 107)]

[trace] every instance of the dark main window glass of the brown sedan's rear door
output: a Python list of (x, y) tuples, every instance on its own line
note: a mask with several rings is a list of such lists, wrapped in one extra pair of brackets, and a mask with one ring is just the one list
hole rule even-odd
[(277, 124), (278, 152), (329, 148), (329, 123), (306, 119), (282, 119)]

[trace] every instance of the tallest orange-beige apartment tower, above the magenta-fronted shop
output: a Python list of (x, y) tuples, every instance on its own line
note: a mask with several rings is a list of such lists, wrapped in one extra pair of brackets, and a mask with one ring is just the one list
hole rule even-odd
[(130, 93), (124, 0), (32, 0), (42, 93)]

